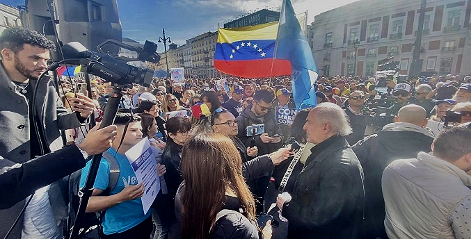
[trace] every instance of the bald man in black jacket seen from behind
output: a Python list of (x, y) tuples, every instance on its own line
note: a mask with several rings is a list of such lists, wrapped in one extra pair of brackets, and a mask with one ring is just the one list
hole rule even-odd
[(388, 238), (381, 176), (392, 161), (415, 158), (420, 151), (431, 150), (433, 134), (424, 129), (426, 124), (426, 110), (410, 104), (399, 110), (394, 123), (352, 146), (365, 172), (365, 238)]

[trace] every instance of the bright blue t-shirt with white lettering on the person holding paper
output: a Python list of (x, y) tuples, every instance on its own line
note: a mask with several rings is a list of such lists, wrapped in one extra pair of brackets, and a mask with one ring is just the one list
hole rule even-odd
[[(118, 154), (118, 152), (116, 152), (112, 147), (108, 149), (108, 152), (111, 155), (115, 155), (115, 158), (118, 160), (120, 165), (120, 177), (115, 188), (110, 192), (110, 195), (115, 195), (118, 194), (118, 192), (121, 192), (125, 186), (136, 185), (138, 181), (126, 156)], [(80, 187), (85, 186), (91, 163), (92, 160), (89, 160), (86, 166), (82, 169)], [(102, 158), (99, 163), (94, 188), (106, 190), (109, 182), (109, 172), (110, 165), (105, 158)], [(147, 217), (150, 217), (150, 215), (150, 210), (144, 215), (141, 198), (134, 199), (132, 201), (123, 201), (122, 203), (106, 210), (102, 222), (103, 233), (105, 235), (109, 235), (127, 231), (143, 222)]]

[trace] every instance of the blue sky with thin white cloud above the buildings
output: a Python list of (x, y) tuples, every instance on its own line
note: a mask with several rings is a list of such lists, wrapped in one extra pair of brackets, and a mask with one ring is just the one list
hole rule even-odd
[[(34, 0), (32, 0), (34, 1)], [(308, 10), (308, 23), (314, 15), (358, 0), (292, 0), (296, 13)], [(11, 6), (24, 0), (0, 0)], [(122, 36), (138, 42), (157, 42), (165, 28), (166, 36), (176, 44), (207, 31), (217, 31), (218, 24), (248, 15), (255, 10), (280, 10), (282, 0), (117, 0)], [(163, 51), (163, 44), (159, 44)]]

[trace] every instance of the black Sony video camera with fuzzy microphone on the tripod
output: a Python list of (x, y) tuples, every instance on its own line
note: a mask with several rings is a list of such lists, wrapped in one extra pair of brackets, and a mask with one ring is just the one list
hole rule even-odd
[[(122, 47), (129, 51), (136, 51), (138, 58), (112, 56), (109, 53), (105, 53), (102, 49), (107, 44)], [(134, 67), (128, 65), (127, 62), (143, 60), (151, 63), (159, 63), (160, 56), (156, 53), (157, 44), (154, 42), (145, 41), (144, 47), (141, 48), (110, 39), (99, 44), (97, 49), (98, 53), (89, 51), (86, 47), (83, 47), (80, 42), (70, 42), (62, 47), (64, 58), (80, 59), (77, 65), (81, 64), (86, 66), (86, 72), (88, 74), (99, 76), (110, 83), (126, 88), (133, 83), (148, 87), (152, 82), (154, 70)]]

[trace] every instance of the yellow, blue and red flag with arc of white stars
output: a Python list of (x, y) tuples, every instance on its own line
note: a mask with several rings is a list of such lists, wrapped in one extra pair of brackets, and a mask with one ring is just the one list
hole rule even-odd
[(219, 28), (214, 67), (232, 76), (260, 78), (291, 74), (289, 60), (274, 59), (278, 22)]

